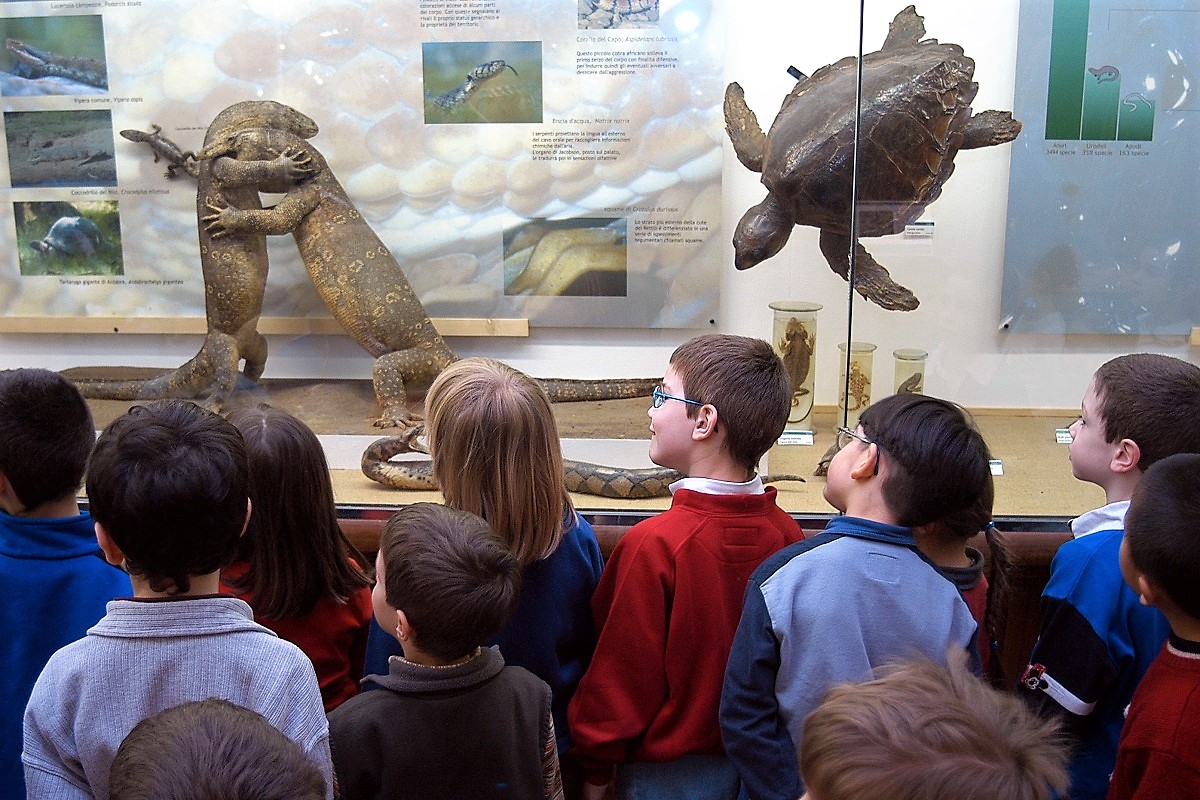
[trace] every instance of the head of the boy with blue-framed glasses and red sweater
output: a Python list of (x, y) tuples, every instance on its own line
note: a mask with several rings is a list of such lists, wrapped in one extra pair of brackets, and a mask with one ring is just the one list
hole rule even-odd
[[(770, 344), (727, 333), (706, 333), (676, 348), (662, 378), (662, 392), (688, 402), (666, 399), (652, 408), (656, 429), (658, 411), (666, 405), (680, 405), (670, 413), (682, 413), (694, 423), (715, 411), (715, 433), (724, 437), (724, 452), (748, 474), (757, 470), (758, 459), (784, 432), (792, 402), (791, 379)], [(679, 456), (670, 446), (655, 431), (650, 459), (680, 469)]]

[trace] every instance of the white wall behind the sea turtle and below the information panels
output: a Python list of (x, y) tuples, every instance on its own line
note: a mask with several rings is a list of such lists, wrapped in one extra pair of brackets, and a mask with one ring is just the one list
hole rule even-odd
[[(770, 125), (792, 85), (785, 72), (806, 73), (857, 50), (858, 4), (850, 0), (726, 0), (727, 72), (739, 82), (763, 127)], [(866, 6), (864, 41), (877, 49), (887, 23), (904, 0)], [(1016, 58), (1018, 0), (962, 2), (923, 0), (928, 35), (961, 44), (976, 60), (976, 110), (1010, 109)], [(1036, 133), (1033, 134), (1036, 136)], [(1122, 353), (1153, 350), (1196, 360), (1183, 337), (1013, 335), (996, 330), (1004, 245), (1008, 160), (1012, 146), (962, 152), (942, 197), (925, 219), (935, 222), (929, 242), (901, 237), (864, 243), (920, 299), (914, 312), (854, 307), (854, 338), (880, 345), (876, 392), (892, 385), (890, 351), (920, 347), (930, 353), (926, 391), (972, 407), (1078, 407), (1092, 371)], [(815, 300), (820, 319), (817, 390), (833, 404), (838, 367), (835, 344), (845, 338), (846, 284), (817, 249), (816, 231), (797, 228), (787, 247), (748, 272), (733, 266), (733, 225), (763, 188), (757, 175), (726, 150), (724, 225), (728, 267), (721, 277), (722, 312), (716, 329), (770, 336), (773, 300)], [(1188, 211), (1193, 212), (1193, 211)], [(660, 374), (671, 350), (695, 331), (535, 329), (528, 339), (452, 339), (462, 355), (491, 355), (539, 377), (640, 377)], [(85, 365), (174, 367), (194, 354), (192, 336), (0, 336), (0, 367)], [(371, 359), (344, 337), (274, 337), (268, 378), (368, 378)]]

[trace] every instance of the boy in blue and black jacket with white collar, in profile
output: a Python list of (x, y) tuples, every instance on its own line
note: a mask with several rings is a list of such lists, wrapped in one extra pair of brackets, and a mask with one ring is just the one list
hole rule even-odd
[(1129, 498), (1142, 473), (1176, 452), (1200, 452), (1200, 368), (1135, 353), (1102, 365), (1070, 426), (1070, 468), (1108, 505), (1070, 523), (1042, 593), (1042, 631), (1021, 691), (1062, 716), (1076, 739), (1072, 800), (1108, 793), (1124, 709), (1170, 631), (1121, 578)]

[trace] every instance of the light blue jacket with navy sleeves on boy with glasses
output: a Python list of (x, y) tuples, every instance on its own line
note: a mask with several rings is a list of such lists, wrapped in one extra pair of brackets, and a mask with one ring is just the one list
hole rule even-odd
[(804, 717), (830, 686), (870, 680), (898, 658), (944, 663), (950, 646), (967, 649), (978, 670), (976, 628), (910, 528), (838, 517), (767, 559), (746, 587), (721, 691), (721, 739), (742, 796), (804, 793)]

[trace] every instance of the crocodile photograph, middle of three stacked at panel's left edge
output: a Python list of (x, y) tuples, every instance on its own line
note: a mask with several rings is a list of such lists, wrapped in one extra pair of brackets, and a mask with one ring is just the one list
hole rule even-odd
[(116, 186), (109, 110), (5, 112), (14, 188)]

